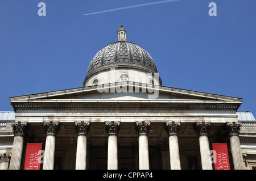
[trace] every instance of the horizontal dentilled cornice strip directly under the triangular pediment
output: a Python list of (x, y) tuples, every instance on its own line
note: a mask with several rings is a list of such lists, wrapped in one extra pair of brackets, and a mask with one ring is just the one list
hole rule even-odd
[(204, 100), (34, 100), (13, 103), (17, 109), (86, 109), (86, 108), (155, 108), (196, 110), (237, 110), (236, 102), (214, 102)]

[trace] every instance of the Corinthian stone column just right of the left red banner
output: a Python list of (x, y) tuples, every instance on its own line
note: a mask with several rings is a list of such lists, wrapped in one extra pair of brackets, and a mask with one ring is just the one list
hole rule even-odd
[(54, 153), (55, 153), (55, 137), (59, 132), (59, 122), (44, 122), (44, 131), (46, 131), (46, 148), (44, 150), (43, 170), (53, 170)]

